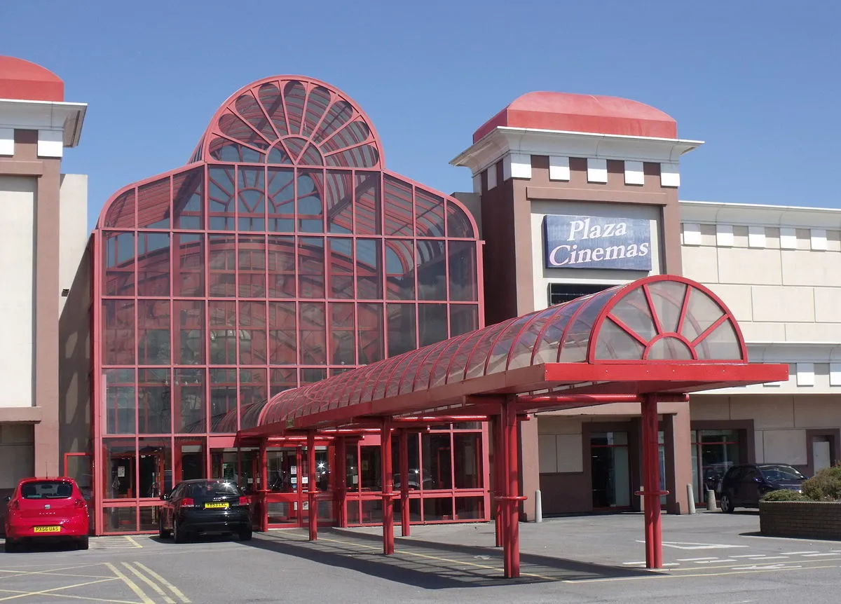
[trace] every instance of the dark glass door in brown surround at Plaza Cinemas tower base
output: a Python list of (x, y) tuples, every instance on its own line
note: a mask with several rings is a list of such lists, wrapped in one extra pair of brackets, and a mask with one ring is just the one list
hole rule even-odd
[(627, 432), (590, 434), (593, 509), (631, 506), (631, 471)]

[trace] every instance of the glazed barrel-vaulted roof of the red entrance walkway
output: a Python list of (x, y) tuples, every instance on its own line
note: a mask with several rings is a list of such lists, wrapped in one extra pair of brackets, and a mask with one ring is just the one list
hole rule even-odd
[[(242, 429), (543, 363), (746, 363), (733, 314), (690, 279), (656, 275), (405, 352), (256, 404)], [(361, 414), (360, 414), (361, 415)]]

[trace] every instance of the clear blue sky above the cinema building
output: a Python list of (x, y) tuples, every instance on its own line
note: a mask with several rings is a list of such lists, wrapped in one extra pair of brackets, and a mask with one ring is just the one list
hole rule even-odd
[(651, 104), (681, 138), (681, 199), (841, 205), (838, 3), (6, 0), (0, 54), (89, 103), (64, 171), (89, 222), (124, 184), (187, 162), (214, 110), (253, 80), (303, 74), (354, 98), (386, 165), (445, 193), (471, 135), (533, 90)]

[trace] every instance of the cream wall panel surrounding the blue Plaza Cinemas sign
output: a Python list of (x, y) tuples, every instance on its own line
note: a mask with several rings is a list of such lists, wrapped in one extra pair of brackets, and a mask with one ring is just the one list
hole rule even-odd
[[(607, 268), (545, 268), (543, 258), (543, 218), (546, 215), (604, 216), (606, 218), (648, 219), (651, 231), (651, 270), (623, 271)], [(595, 283), (617, 285), (629, 283), (649, 274), (659, 274), (662, 250), (659, 237), (660, 210), (653, 206), (637, 204), (588, 204), (567, 201), (532, 201), (532, 283), (534, 283), (534, 310), (547, 307), (549, 283)], [(485, 267), (485, 270), (489, 270)]]

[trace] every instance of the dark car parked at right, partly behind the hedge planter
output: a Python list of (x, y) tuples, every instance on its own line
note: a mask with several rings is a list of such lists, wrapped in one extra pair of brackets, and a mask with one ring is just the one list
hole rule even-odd
[(770, 490), (800, 491), (806, 476), (788, 464), (734, 465), (722, 479), (719, 505), (731, 512), (737, 507), (759, 507), (759, 498)]

